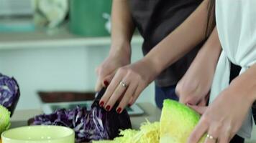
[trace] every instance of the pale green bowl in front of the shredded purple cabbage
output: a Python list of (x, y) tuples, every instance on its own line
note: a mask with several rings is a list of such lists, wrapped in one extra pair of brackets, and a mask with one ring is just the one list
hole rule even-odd
[(28, 126), (1, 134), (2, 143), (74, 143), (73, 129), (60, 126)]

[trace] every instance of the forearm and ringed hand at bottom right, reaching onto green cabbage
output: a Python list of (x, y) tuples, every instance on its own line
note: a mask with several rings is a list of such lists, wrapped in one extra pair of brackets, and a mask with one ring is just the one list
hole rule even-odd
[(189, 143), (198, 142), (205, 132), (219, 142), (230, 142), (256, 100), (255, 73), (256, 64), (234, 79), (209, 107), (193, 107), (204, 114), (189, 137)]

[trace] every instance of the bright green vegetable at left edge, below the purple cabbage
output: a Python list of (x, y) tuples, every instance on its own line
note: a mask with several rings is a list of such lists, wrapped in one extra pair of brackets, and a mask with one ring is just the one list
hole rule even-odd
[(10, 123), (10, 112), (8, 109), (0, 105), (0, 134), (6, 129), (9, 129)]

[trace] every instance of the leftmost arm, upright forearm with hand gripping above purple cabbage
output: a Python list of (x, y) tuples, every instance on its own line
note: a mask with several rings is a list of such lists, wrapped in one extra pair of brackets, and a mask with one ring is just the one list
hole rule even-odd
[(114, 72), (121, 66), (130, 64), (130, 41), (134, 24), (128, 6), (129, 0), (113, 0), (111, 11), (111, 48), (109, 56), (96, 69), (98, 79), (95, 90), (106, 87), (114, 77)]

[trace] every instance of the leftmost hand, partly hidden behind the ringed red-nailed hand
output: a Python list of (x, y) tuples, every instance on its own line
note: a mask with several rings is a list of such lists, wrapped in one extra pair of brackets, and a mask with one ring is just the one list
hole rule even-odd
[[(127, 48), (129, 49), (129, 48)], [(107, 87), (114, 77), (116, 70), (130, 64), (130, 51), (119, 51), (109, 56), (96, 68), (98, 79), (95, 91), (99, 92), (102, 87)]]

